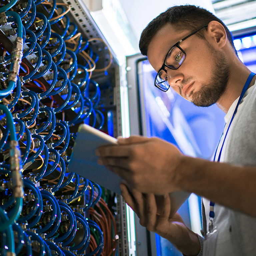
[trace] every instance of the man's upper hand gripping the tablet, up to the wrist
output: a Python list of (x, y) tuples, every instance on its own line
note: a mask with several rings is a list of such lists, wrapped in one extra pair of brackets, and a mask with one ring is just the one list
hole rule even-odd
[(97, 149), (98, 163), (118, 174), (144, 193), (167, 194), (181, 190), (183, 155), (172, 144), (158, 138), (131, 136), (119, 145)]

